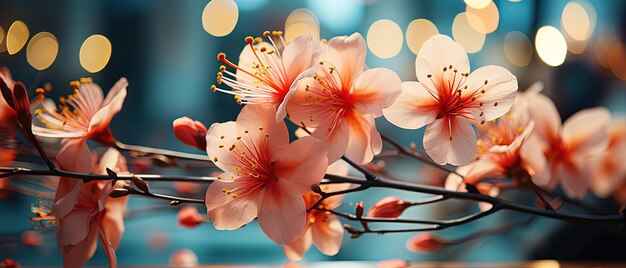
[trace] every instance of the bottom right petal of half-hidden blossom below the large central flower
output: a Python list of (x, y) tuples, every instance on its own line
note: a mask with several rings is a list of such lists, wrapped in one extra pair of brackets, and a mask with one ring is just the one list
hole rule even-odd
[(327, 215), (326, 220), (316, 221), (311, 225), (313, 243), (320, 252), (334, 256), (341, 248), (343, 226), (335, 215)]

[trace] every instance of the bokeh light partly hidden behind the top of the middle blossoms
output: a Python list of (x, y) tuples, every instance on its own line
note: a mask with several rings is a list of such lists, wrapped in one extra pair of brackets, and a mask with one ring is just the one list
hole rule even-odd
[(310, 34), (314, 39), (319, 39), (320, 22), (311, 10), (299, 8), (291, 12), (285, 21), (285, 41), (291, 42), (303, 34)]

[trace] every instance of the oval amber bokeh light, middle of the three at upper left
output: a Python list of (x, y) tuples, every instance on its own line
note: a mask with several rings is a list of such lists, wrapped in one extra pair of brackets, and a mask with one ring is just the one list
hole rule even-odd
[(26, 47), (26, 60), (36, 70), (45, 70), (57, 57), (59, 43), (49, 32), (41, 32), (33, 36)]

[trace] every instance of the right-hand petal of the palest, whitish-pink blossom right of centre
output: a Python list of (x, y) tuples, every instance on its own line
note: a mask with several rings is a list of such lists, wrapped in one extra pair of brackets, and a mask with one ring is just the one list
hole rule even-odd
[(468, 88), (463, 91), (464, 95), (474, 91), (485, 92), (478, 93), (476, 97), (475, 103), (482, 103), (478, 108), (482, 116), (475, 120), (494, 120), (507, 113), (515, 102), (517, 78), (504, 67), (488, 65), (478, 68), (467, 77), (465, 85)]

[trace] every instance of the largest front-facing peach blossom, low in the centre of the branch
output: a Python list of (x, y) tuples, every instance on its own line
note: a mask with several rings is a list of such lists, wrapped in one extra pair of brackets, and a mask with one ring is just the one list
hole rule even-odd
[(295, 241), (304, 230), (302, 195), (328, 167), (324, 142), (304, 137), (289, 143), (284, 122), (269, 105), (246, 105), (236, 122), (213, 124), (209, 158), (224, 173), (206, 193), (208, 216), (218, 230), (234, 230), (258, 218), (277, 244)]

